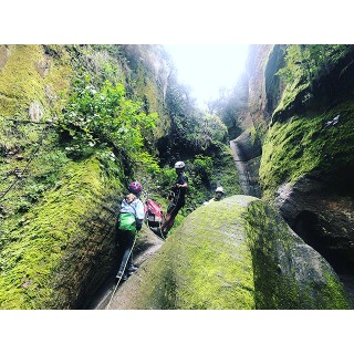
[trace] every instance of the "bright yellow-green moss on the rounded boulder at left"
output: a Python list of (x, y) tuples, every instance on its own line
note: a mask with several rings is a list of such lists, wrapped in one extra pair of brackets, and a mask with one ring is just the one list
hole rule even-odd
[(102, 201), (105, 185), (96, 159), (69, 164), (60, 180), (1, 251), (7, 260), (1, 264), (1, 309), (53, 305), (55, 270), (72, 238), (83, 233), (83, 220)]

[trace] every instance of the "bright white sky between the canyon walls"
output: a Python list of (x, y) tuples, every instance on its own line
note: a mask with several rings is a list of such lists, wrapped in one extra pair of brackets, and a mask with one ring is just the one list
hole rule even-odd
[(232, 88), (244, 70), (248, 44), (164, 44), (177, 69), (178, 82), (190, 87), (198, 106)]

